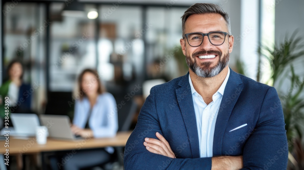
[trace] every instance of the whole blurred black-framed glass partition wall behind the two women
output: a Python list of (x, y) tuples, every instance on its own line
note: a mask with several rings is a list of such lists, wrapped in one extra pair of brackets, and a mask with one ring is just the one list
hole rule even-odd
[[(11, 3), (4, 0), (3, 10)], [(67, 9), (71, 6), (74, 9)], [(5, 68), (12, 59), (22, 60), (24, 81), (40, 84), (33, 98), (33, 110), (39, 113), (51, 100), (50, 93), (71, 96), (76, 78), (85, 68), (98, 70), (114, 96), (124, 96), (145, 80), (171, 80), (185, 73), (181, 68), (185, 58), (178, 54), (181, 16), (187, 8), (165, 4), (18, 2), (2, 16), (2, 76), (5, 80)], [(98, 16), (88, 15), (91, 11)], [(141, 90), (136, 94), (141, 95)]]

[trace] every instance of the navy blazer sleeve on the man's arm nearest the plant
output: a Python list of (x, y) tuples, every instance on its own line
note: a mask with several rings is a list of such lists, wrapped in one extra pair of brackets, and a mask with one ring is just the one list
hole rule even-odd
[(264, 97), (256, 128), (244, 145), (243, 170), (285, 170), (288, 143), (284, 114), (274, 87)]

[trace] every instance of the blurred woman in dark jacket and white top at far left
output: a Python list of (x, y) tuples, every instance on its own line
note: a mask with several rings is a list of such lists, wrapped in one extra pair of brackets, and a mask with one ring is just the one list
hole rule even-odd
[(31, 113), (30, 85), (22, 81), (23, 67), (18, 60), (12, 60), (7, 68), (9, 80), (0, 87), (1, 117), (4, 118), (4, 98), (9, 97), (11, 113)]

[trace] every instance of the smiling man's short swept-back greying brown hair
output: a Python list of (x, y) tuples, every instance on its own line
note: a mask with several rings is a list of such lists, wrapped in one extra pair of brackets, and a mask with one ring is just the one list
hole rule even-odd
[(184, 13), (183, 16), (181, 16), (181, 22), (182, 26), (181, 29), (183, 31), (183, 38), (185, 35), (185, 23), (189, 16), (194, 15), (194, 14), (210, 14), (210, 13), (215, 13), (222, 15), (223, 18), (226, 21), (226, 26), (228, 29), (228, 34), (231, 35), (231, 28), (230, 28), (230, 17), (227, 12), (225, 12), (219, 5), (216, 4), (211, 4), (211, 3), (196, 3), (194, 5), (191, 5)]

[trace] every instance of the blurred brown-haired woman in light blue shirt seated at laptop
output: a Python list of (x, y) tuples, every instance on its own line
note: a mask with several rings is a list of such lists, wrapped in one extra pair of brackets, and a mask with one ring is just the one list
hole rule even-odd
[(113, 137), (118, 130), (116, 101), (105, 92), (98, 73), (84, 70), (78, 79), (80, 99), (75, 102), (72, 131), (82, 137)]

